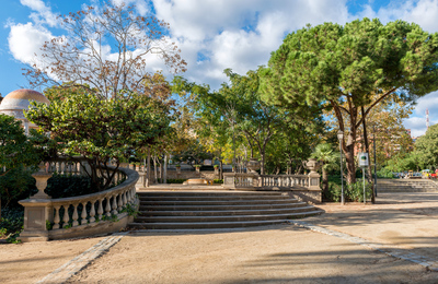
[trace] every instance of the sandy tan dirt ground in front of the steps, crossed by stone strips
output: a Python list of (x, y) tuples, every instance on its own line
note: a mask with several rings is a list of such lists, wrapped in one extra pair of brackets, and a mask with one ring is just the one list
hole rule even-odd
[[(438, 193), (323, 204), (301, 221), (438, 261)], [(0, 245), (0, 283), (35, 283), (103, 238)], [(438, 272), (288, 224), (222, 233), (132, 233), (69, 283), (438, 283)]]

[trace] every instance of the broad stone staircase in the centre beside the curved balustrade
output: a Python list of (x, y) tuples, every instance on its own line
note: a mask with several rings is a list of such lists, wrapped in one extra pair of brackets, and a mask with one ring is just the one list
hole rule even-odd
[(211, 229), (284, 223), (323, 213), (281, 192), (138, 192), (139, 214), (132, 229)]

